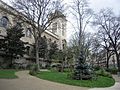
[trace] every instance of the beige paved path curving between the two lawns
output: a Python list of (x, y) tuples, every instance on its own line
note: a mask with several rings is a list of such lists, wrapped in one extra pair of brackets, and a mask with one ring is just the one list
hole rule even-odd
[(88, 90), (83, 87), (42, 80), (30, 76), (28, 71), (19, 71), (16, 75), (18, 79), (0, 79), (0, 90)]

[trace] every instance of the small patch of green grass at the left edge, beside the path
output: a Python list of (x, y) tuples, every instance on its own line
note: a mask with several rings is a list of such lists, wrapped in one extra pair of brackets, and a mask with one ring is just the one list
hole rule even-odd
[(14, 79), (16, 70), (0, 70), (0, 79)]

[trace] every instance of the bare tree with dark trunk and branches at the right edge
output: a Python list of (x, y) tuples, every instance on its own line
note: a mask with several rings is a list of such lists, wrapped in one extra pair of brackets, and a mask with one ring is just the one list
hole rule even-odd
[[(120, 45), (120, 17), (114, 15), (111, 9), (103, 9), (95, 15), (95, 22), (101, 32), (107, 49), (116, 55), (117, 66), (120, 72), (119, 45)], [(108, 46), (109, 45), (109, 46)]]

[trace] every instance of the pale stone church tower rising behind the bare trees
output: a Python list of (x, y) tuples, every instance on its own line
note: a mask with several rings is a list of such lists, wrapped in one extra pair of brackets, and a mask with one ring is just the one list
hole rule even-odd
[(66, 45), (66, 16), (56, 10), (54, 16), (57, 17), (53, 20), (51, 24), (51, 32), (59, 37), (59, 42), (57, 42), (60, 50), (63, 50)]

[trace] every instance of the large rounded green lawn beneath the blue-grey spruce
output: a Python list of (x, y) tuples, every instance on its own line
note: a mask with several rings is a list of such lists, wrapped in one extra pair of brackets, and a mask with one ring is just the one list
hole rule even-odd
[(38, 78), (68, 84), (68, 85), (75, 85), (81, 87), (110, 87), (114, 85), (115, 81), (113, 78), (99, 76), (97, 80), (73, 80), (67, 78), (67, 73), (60, 73), (60, 72), (39, 72), (36, 75)]

